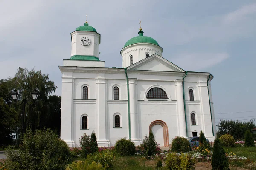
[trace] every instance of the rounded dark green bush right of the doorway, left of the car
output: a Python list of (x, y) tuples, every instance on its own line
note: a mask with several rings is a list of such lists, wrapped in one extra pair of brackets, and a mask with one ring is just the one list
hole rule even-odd
[(183, 137), (176, 136), (172, 141), (172, 152), (186, 153), (191, 151), (189, 141)]

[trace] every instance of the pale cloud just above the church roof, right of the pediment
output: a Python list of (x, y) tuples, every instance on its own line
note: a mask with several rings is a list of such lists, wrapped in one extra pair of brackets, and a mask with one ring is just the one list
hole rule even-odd
[(223, 62), (229, 57), (229, 54), (222, 53), (185, 53), (173, 59), (176, 65), (184, 70), (200, 71), (213, 65)]

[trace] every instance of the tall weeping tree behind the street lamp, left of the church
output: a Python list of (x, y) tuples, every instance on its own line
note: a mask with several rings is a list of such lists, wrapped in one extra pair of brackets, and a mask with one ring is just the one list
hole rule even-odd
[[(54, 112), (54, 107), (49, 102), (49, 96), (56, 91), (57, 86), (53, 81), (49, 80), (48, 74), (43, 74), (41, 71), (35, 71), (34, 69), (28, 70), (27, 68), (18, 68), (17, 73), (14, 77), (9, 78), (11, 89), (19, 91), (19, 97), (17, 103), (20, 104), (23, 99), (26, 99), (29, 104), (34, 101), (32, 99), (31, 92), (34, 89), (39, 90), (38, 98), (34, 105), (25, 106), (25, 118), (24, 118), (24, 129), (28, 126), (35, 132), (40, 127), (47, 127), (47, 121), (52, 117), (51, 114)], [(57, 96), (58, 97), (58, 96)], [(20, 113), (20, 120), (23, 119), (22, 107), (23, 105), (17, 106), (12, 104), (12, 107)], [(17, 136), (21, 134), (22, 121), (17, 128)]]

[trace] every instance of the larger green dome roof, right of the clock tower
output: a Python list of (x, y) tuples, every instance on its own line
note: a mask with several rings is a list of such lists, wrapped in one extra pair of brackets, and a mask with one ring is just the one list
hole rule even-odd
[(156, 40), (154, 40), (153, 38), (151, 37), (147, 37), (147, 36), (143, 36), (143, 31), (139, 31), (138, 34), (139, 36), (137, 37), (133, 37), (131, 38), (130, 40), (128, 40), (126, 43), (125, 43), (125, 47), (129, 46), (129, 45), (132, 45), (132, 44), (138, 44), (138, 43), (148, 43), (148, 44), (154, 44), (154, 45), (157, 45), (159, 46), (159, 44), (157, 43)]

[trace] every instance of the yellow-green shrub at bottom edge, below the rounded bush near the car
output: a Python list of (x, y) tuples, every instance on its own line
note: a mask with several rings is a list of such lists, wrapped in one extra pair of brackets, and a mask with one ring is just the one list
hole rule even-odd
[(188, 153), (169, 153), (166, 156), (166, 167), (170, 170), (194, 170), (195, 160)]

